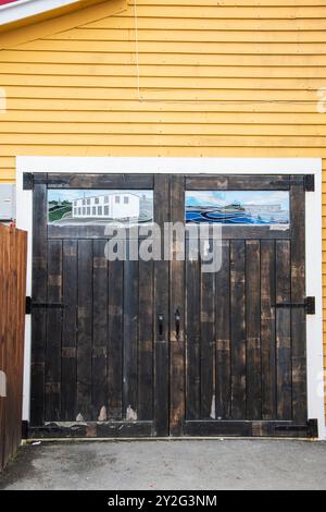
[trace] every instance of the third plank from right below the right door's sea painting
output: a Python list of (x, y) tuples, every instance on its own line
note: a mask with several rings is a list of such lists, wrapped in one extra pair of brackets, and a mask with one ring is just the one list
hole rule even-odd
[(246, 242), (247, 418), (262, 417), (260, 242)]

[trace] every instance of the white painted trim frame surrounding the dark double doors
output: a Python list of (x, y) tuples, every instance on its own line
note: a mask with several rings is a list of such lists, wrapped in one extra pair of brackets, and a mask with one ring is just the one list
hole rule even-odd
[[(17, 227), (28, 231), (27, 295), (32, 294), (32, 192), (23, 191), (24, 172), (314, 174), (315, 192), (306, 193), (306, 294), (316, 314), (306, 317), (308, 409), (326, 438), (324, 416), (322, 303), (322, 159), (321, 158), (133, 158), (17, 157)], [(23, 418), (29, 419), (30, 317), (26, 321)]]

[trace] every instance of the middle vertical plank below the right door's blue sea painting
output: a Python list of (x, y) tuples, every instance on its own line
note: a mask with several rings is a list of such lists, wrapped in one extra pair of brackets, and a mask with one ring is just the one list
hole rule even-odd
[(230, 244), (231, 416), (246, 418), (244, 242)]

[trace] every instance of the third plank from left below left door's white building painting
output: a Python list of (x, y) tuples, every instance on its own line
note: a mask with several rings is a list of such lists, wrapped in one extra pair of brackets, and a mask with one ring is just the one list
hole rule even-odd
[(77, 416), (91, 419), (92, 240), (78, 240)]

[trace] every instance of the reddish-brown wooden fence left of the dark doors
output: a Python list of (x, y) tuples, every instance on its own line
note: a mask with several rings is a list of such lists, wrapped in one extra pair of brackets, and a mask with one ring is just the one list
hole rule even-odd
[(22, 439), (26, 253), (27, 233), (0, 224), (0, 471)]

